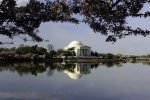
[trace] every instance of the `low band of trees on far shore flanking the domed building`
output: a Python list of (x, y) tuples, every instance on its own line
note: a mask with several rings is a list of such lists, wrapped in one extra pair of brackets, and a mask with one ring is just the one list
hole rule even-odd
[[(28, 46), (20, 44), (19, 47), (0, 48), (0, 61), (62, 61), (64, 59), (76, 59), (74, 49), (69, 50), (58, 49), (54, 50), (38, 45)], [(91, 51), (91, 57), (97, 59), (121, 59), (125, 57), (122, 54), (98, 53)]]

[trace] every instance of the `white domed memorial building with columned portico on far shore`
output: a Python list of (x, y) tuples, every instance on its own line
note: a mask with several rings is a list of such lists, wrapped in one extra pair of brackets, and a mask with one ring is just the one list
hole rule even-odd
[(67, 47), (65, 47), (65, 50), (71, 48), (74, 49), (74, 52), (77, 57), (91, 56), (91, 47), (83, 45), (79, 41), (72, 41)]

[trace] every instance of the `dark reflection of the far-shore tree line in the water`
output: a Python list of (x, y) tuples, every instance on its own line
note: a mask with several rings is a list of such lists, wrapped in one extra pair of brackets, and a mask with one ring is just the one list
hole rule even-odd
[[(74, 73), (75, 67), (90, 66), (90, 69), (96, 69), (98, 66), (120, 67), (120, 62), (101, 62), (101, 63), (0, 63), (0, 71), (17, 72), (20, 76), (35, 75), (46, 72), (48, 76), (52, 76), (55, 71), (62, 72), (67, 70)], [(150, 64), (150, 63), (149, 63)]]

